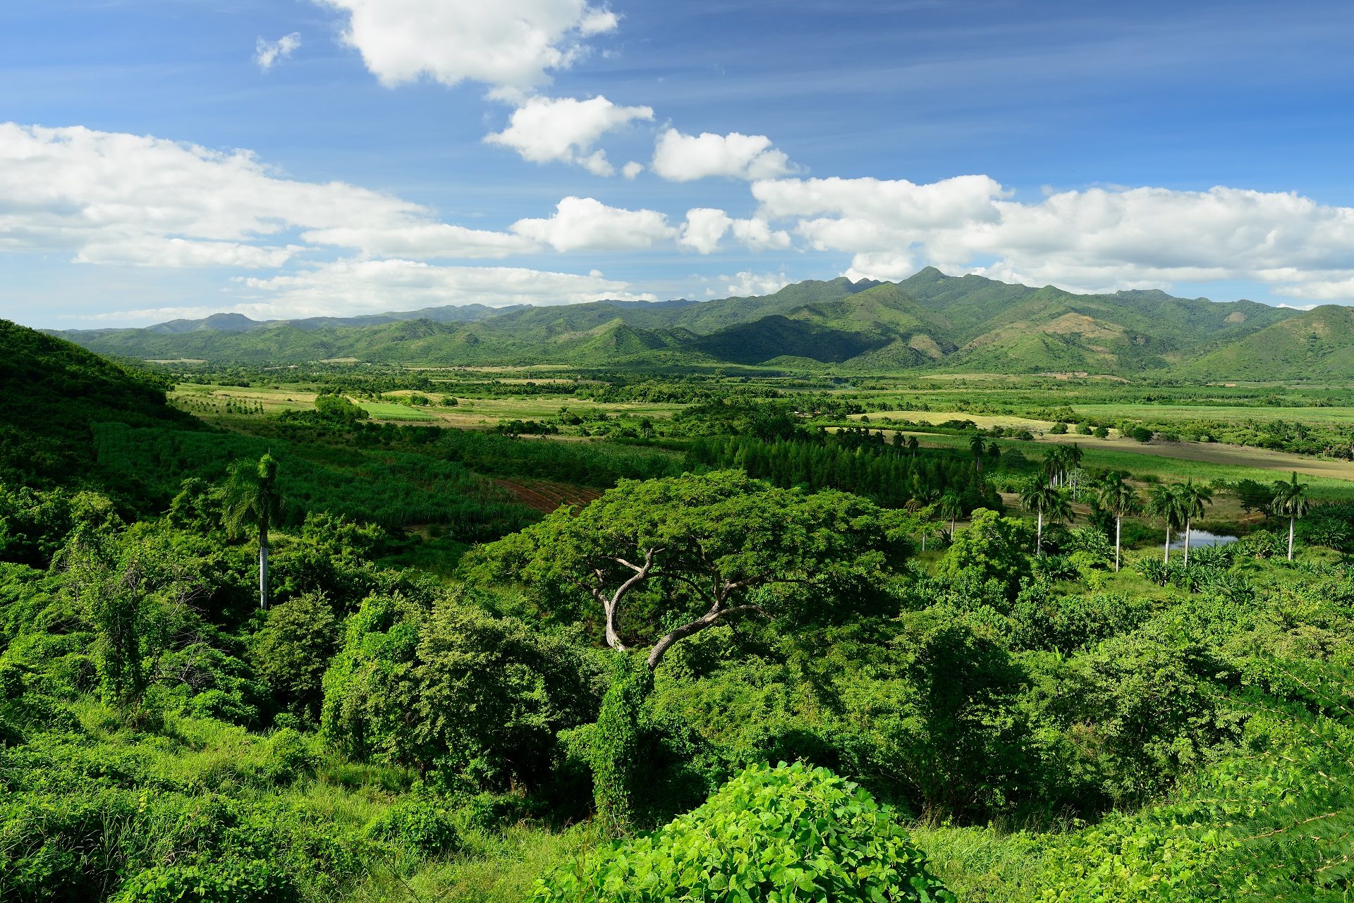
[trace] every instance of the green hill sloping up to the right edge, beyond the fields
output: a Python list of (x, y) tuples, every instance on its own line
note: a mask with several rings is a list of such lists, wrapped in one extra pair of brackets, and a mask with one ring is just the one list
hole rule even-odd
[(1177, 372), (1202, 379), (1350, 379), (1354, 309), (1316, 307), (1182, 364)]

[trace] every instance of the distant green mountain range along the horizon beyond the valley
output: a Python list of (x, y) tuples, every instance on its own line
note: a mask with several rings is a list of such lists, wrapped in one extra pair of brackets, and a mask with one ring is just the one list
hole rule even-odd
[(1354, 376), (1346, 307), (1297, 311), (1162, 291), (1075, 294), (926, 268), (899, 283), (802, 282), (719, 301), (431, 307), (145, 329), (69, 330), (91, 351), (252, 364), (357, 359), (429, 366), (757, 364), (850, 371), (1164, 372), (1208, 379)]

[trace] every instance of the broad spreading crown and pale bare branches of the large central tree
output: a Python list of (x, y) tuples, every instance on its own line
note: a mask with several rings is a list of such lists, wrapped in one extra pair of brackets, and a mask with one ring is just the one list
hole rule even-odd
[[(477, 550), (467, 567), (592, 600), (607, 644), (650, 644), (653, 669), (674, 643), (738, 616), (822, 609), (896, 562), (911, 527), (913, 516), (848, 493), (776, 489), (742, 471), (685, 474), (621, 481), (577, 514), (561, 508)], [(639, 623), (623, 623), (640, 594)]]

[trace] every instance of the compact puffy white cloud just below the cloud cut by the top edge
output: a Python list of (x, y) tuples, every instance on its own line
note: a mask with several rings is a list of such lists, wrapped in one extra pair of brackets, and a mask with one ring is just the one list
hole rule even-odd
[(512, 148), (531, 162), (574, 162), (609, 176), (615, 169), (593, 145), (608, 131), (653, 118), (653, 107), (617, 107), (607, 97), (528, 97), (513, 111), (508, 127), (485, 141)]

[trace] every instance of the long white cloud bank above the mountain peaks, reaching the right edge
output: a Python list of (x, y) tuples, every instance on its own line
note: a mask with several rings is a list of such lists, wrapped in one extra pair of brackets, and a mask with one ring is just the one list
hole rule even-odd
[(753, 196), (761, 217), (796, 219), (812, 248), (852, 253), (852, 278), (929, 263), (1086, 291), (1244, 279), (1354, 296), (1354, 208), (1296, 194), (1089, 188), (1024, 203), (987, 176), (960, 176), (765, 180)]

